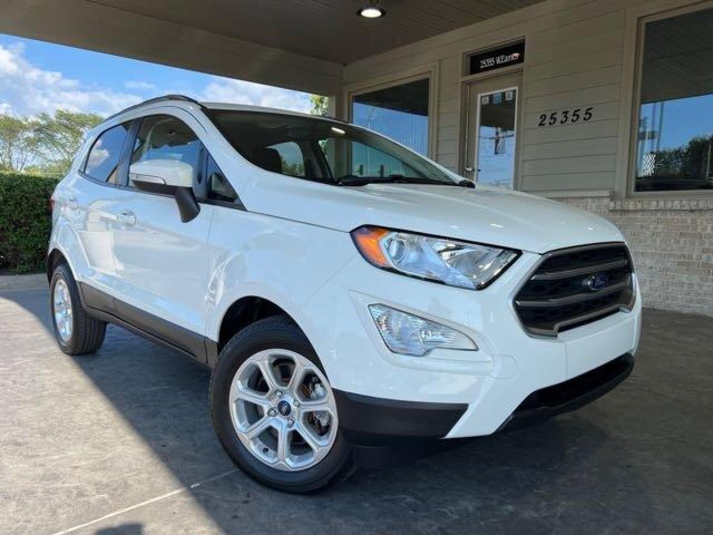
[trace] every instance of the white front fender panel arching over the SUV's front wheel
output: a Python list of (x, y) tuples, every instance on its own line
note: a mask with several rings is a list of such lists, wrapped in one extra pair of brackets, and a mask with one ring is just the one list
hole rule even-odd
[(222, 320), (237, 300), (261, 297), (287, 312), (323, 355), (319, 318), (308, 315), (305, 305), (359, 254), (349, 233), (217, 208), (209, 249), (207, 337), (219, 339)]

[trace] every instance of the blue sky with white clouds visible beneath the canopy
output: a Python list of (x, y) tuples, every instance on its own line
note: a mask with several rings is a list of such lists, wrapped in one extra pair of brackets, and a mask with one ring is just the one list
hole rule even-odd
[(107, 116), (166, 93), (309, 111), (309, 94), (0, 34), (0, 113)]

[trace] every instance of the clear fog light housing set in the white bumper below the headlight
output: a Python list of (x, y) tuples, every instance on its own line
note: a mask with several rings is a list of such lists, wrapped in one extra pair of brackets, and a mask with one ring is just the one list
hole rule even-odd
[(394, 353), (423, 357), (432, 349), (477, 350), (475, 342), (451, 327), (386, 305), (369, 305), (376, 328)]

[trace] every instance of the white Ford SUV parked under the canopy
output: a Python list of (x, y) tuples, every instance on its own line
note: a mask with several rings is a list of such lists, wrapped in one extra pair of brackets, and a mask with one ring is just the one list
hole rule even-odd
[(220, 442), (277, 489), (574, 409), (633, 366), (614, 225), (348, 123), (153, 99), (86, 136), (53, 205), (62, 350), (111, 322), (205, 363)]

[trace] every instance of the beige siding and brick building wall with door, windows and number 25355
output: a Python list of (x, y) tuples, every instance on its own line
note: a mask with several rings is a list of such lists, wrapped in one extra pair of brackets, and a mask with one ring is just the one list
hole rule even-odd
[(646, 306), (713, 315), (713, 2), (547, 0), (344, 80), (352, 121), (609, 218)]

